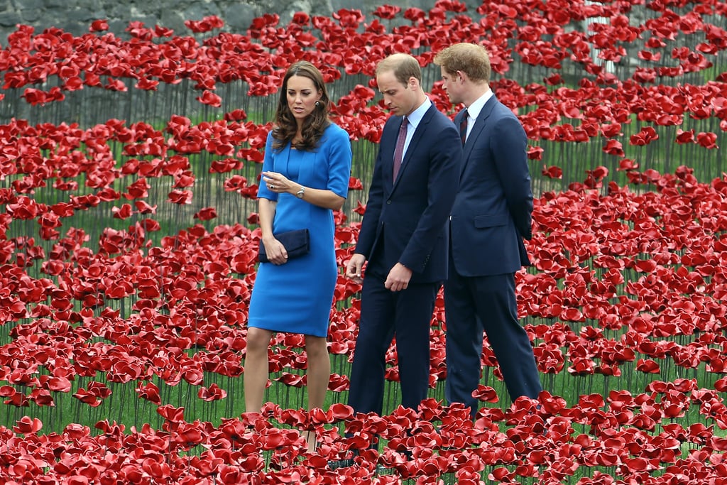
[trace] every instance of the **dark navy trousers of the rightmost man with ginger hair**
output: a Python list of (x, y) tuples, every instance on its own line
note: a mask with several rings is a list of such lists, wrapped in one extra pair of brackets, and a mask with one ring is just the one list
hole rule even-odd
[(447, 401), (469, 406), (475, 417), (478, 400), (472, 392), (481, 378), (483, 332), (497, 357), (510, 398), (537, 398), (542, 386), (528, 334), (518, 321), (513, 273), (465, 277), (451, 265), (444, 284), (444, 309)]

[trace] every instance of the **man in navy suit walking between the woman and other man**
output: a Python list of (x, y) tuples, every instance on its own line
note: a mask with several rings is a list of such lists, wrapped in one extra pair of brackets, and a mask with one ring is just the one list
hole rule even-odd
[[(401, 404), (417, 409), (429, 388), (434, 302), (447, 276), (447, 223), (459, 180), (459, 130), (427, 97), (414, 57), (377, 65), (386, 121), (349, 278), (363, 281), (348, 404), (382, 413), (385, 356), (396, 337)], [(362, 270), (366, 263), (365, 276)]]

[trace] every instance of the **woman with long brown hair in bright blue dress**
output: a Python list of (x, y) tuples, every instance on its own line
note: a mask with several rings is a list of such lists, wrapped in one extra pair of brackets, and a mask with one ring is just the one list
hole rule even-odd
[[(333, 211), (348, 195), (348, 133), (329, 121), (323, 76), (313, 64), (291, 65), (283, 79), (276, 124), (268, 134), (258, 197), (261, 262), (249, 307), (244, 370), (245, 409), (260, 412), (268, 382), (268, 348), (274, 332), (305, 334), (308, 409), (324, 405), (331, 376), (329, 316), (338, 267)], [(276, 234), (308, 228), (310, 252), (288, 259)], [(308, 450), (316, 441), (308, 433)]]

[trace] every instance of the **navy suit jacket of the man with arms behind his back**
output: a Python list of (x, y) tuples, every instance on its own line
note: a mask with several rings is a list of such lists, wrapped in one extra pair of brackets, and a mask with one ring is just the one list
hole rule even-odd
[[(454, 118), (459, 126), (462, 112)], [(470, 121), (471, 123), (472, 121)], [(527, 137), (517, 116), (492, 96), (465, 143), (451, 212), (451, 255), (462, 276), (514, 273), (529, 265), (533, 194)]]

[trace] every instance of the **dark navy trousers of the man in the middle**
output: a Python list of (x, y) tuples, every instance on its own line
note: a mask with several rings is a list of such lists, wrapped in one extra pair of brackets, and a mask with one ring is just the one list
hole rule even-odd
[(386, 351), (396, 337), (401, 404), (417, 409), (429, 388), (429, 332), (441, 283), (409, 284), (401, 292), (367, 272), (361, 289), (361, 320), (353, 353), (348, 405), (382, 413)]

